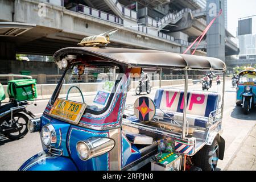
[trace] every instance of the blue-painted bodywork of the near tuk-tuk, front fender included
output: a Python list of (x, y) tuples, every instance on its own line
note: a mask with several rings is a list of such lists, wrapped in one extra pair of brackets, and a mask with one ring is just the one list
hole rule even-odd
[[(81, 170), (81, 171), (108, 171), (110, 169), (109, 152), (83, 161), (79, 158), (76, 150), (76, 144), (80, 140), (86, 140), (91, 137), (109, 137), (109, 130), (98, 131), (86, 129), (84, 127), (71, 125), (44, 114), (41, 118), (41, 127), (51, 123), (55, 128), (57, 142), (54, 148), (63, 151), (63, 156), (49, 154), (46, 147), (45, 151), (28, 159), (19, 170), (27, 171), (58, 171), (58, 170)], [(122, 134), (122, 154), (121, 167), (125, 167), (131, 162), (141, 158), (137, 147), (131, 145), (129, 140)]]

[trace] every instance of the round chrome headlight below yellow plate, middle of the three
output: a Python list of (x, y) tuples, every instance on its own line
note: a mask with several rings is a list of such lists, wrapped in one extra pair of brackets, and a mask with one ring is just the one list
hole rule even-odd
[(41, 137), (46, 147), (52, 147), (56, 144), (56, 131), (51, 124), (48, 124), (42, 128)]

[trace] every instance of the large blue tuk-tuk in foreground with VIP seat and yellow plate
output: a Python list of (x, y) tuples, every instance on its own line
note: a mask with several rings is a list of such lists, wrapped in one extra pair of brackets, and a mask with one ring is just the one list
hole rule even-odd
[[(225, 63), (213, 57), (106, 47), (108, 43), (95, 36), (82, 40), (83, 47), (55, 53), (63, 76), (42, 117), (28, 122), (31, 133), (40, 132), (43, 151), (19, 170), (216, 169), (225, 150)], [(101, 82), (88, 82), (85, 71), (96, 68), (104, 73), (97, 76)], [(131, 78), (143, 69), (162, 68), (184, 73), (184, 89), (158, 89), (155, 98), (140, 97), (126, 105)], [(188, 90), (193, 70), (223, 73), (222, 96)]]

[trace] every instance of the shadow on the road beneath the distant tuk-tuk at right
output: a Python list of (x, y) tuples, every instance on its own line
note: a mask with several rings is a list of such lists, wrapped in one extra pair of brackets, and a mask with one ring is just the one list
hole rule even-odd
[(231, 113), (232, 118), (244, 119), (248, 121), (256, 120), (256, 108), (252, 109), (248, 115), (243, 114), (242, 106), (236, 106)]

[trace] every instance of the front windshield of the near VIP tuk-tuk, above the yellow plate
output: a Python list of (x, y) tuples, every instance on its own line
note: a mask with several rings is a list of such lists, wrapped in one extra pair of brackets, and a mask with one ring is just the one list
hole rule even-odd
[(110, 93), (114, 92), (114, 67), (72, 65), (61, 81), (63, 84), (56, 98), (84, 102), (86, 109), (101, 111), (108, 104)]

